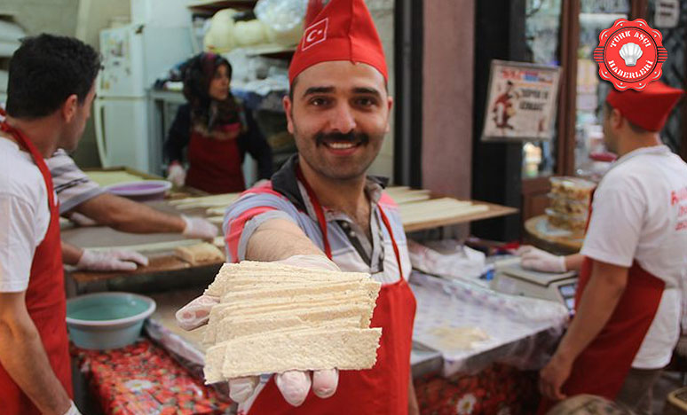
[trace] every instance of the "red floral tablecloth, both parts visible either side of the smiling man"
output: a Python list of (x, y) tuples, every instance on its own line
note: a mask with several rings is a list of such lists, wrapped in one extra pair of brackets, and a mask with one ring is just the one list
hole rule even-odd
[[(91, 393), (107, 414), (219, 415), (230, 403), (142, 339), (126, 348), (98, 351), (72, 346)], [(415, 380), (422, 415), (519, 415), (536, 411), (537, 373), (494, 364), (474, 375)]]

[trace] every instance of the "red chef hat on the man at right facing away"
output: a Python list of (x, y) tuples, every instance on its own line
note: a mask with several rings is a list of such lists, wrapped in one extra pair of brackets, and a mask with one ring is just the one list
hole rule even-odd
[(611, 90), (606, 102), (618, 109), (623, 117), (637, 127), (649, 131), (660, 131), (666, 123), (670, 110), (683, 95), (683, 90), (654, 81), (644, 90)]

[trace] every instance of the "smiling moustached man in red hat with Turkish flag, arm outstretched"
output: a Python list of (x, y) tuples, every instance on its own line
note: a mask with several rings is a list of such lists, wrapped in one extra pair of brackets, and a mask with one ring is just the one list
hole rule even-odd
[[(320, 4), (320, 8), (313, 5)], [(284, 98), (298, 154), (271, 183), (250, 189), (225, 215), (228, 258), (361, 271), (382, 283), (371, 326), (382, 327), (376, 364), (363, 371), (285, 372), (257, 384), (230, 380), (240, 413), (417, 413), (410, 376), (415, 297), (407, 240), (383, 180), (366, 176), (389, 131), (392, 99), (382, 44), (364, 0), (312, 1)], [(217, 299), (177, 313), (207, 320)]]

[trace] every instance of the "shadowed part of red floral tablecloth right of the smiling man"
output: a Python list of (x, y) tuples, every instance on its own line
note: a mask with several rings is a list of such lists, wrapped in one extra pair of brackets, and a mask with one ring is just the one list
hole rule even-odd
[(450, 379), (415, 380), (422, 415), (529, 415), (539, 403), (537, 373), (493, 364), (482, 372)]

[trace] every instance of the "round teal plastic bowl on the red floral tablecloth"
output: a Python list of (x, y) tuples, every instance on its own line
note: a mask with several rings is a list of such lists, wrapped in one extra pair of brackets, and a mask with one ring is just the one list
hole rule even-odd
[(80, 348), (123, 348), (138, 339), (152, 298), (130, 293), (85, 294), (67, 300), (69, 337)]

